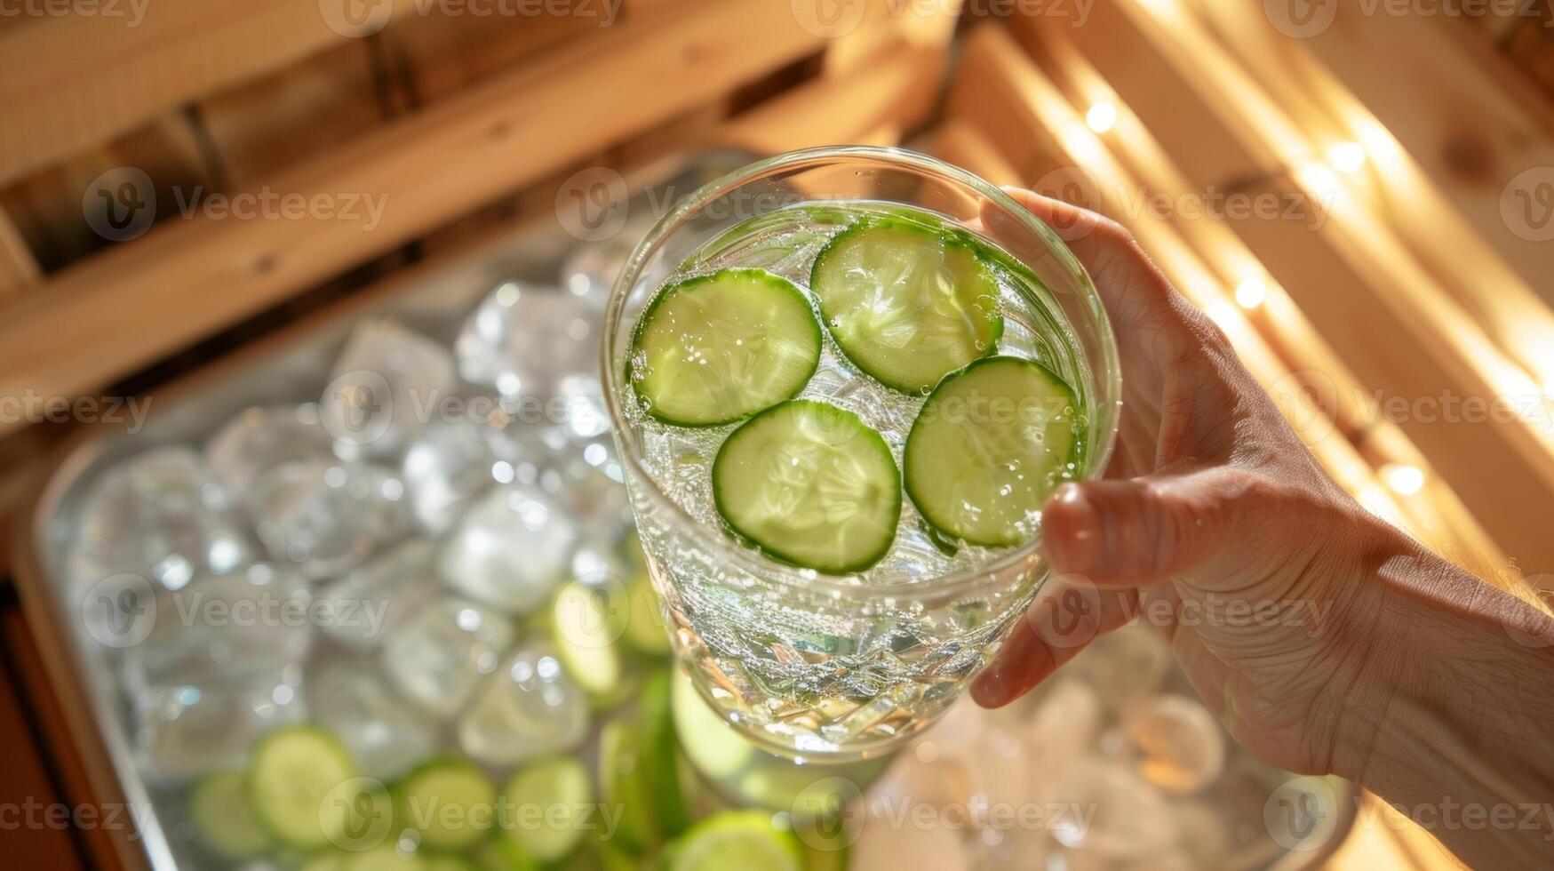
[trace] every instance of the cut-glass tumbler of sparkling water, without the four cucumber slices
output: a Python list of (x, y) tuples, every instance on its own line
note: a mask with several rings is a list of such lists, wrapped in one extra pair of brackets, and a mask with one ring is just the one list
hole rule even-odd
[[(999, 352), (1040, 359), (1083, 406), (1078, 476), (1105, 468), (1117, 422), (1116, 347), (1089, 278), (1057, 236), (987, 182), (903, 149), (774, 157), (676, 205), (618, 277), (605, 325), (606, 400), (671, 635), (701, 697), (768, 750), (845, 761), (886, 753), (939, 717), (996, 652), (1046, 577), (1035, 540), (948, 555), (911, 501), (886, 557), (853, 575), (777, 563), (729, 537), (710, 496), (732, 426), (688, 429), (642, 412), (628, 383), (632, 330), (668, 282), (761, 268), (803, 288), (850, 215), (911, 207), (1001, 247), (1033, 275), (1002, 282)], [(982, 229), (996, 227), (996, 244)], [(923, 404), (850, 367), (831, 347), (800, 398), (852, 411), (900, 465)]]

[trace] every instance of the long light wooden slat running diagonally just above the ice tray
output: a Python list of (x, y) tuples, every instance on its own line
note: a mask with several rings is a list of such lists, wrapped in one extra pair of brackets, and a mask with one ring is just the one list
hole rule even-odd
[(0, 397), (75, 395), (145, 366), (819, 45), (786, 5), (720, 0), (564, 47), (267, 182), (309, 199), (379, 198), (371, 230), (199, 216), (0, 308)]

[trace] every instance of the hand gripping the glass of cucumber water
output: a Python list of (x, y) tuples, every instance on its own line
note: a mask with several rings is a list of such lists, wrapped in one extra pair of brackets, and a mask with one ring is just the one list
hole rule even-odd
[(1044, 507), (1052, 580), (973, 697), (1005, 705), (1142, 614), (1237, 740), (1288, 770), (1332, 771), (1340, 726), (1380, 722), (1341, 715), (1382, 610), (1377, 585), (1355, 582), (1422, 549), (1322, 471), (1225, 334), (1127, 230), (1009, 193), (1094, 280), (1117, 333), (1124, 406), (1105, 479), (1063, 485)]

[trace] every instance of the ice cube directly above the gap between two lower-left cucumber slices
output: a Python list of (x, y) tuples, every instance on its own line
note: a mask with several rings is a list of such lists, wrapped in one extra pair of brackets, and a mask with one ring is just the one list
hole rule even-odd
[(308, 670), (306, 695), (312, 719), (345, 742), (367, 776), (395, 779), (437, 750), (437, 722), (395, 695), (378, 663), (319, 663)]

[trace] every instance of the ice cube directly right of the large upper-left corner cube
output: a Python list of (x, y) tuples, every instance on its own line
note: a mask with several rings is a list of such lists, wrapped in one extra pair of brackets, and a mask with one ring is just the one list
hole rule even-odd
[(311, 579), (365, 561), (410, 526), (404, 484), (354, 462), (289, 462), (258, 477), (250, 509), (270, 555)]

